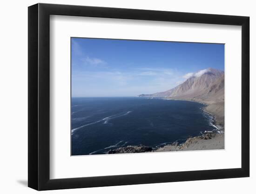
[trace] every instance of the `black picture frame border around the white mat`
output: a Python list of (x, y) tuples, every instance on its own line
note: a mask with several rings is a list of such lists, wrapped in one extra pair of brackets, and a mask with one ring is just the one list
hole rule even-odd
[[(242, 167), (218, 170), (50, 179), (50, 15), (242, 26)], [(238, 126), (240, 127), (240, 126)], [(28, 187), (101, 187), (249, 176), (249, 17), (110, 7), (36, 4), (28, 7)]]

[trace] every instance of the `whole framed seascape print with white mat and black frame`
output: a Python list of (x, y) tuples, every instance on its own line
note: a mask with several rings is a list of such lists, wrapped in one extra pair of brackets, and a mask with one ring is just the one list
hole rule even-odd
[(28, 7), (28, 187), (249, 176), (249, 17)]

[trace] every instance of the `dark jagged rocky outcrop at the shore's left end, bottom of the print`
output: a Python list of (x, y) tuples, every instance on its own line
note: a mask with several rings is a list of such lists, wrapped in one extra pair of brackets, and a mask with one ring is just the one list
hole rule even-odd
[(143, 153), (143, 152), (151, 152), (151, 151), (152, 151), (152, 147), (139, 145), (139, 146), (120, 147), (114, 150), (109, 150), (108, 154)]

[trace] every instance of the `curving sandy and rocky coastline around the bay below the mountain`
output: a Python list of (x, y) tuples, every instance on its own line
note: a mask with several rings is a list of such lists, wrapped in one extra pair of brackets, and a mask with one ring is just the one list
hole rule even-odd
[(223, 102), (205, 102), (197, 100), (170, 99), (165, 100), (184, 100), (193, 101), (205, 105), (202, 110), (212, 116), (212, 125), (216, 127), (213, 131), (204, 131), (201, 135), (189, 137), (181, 144), (172, 142), (162, 147), (147, 147), (144, 145), (120, 147), (109, 150), (107, 154), (124, 153), (146, 153), (146, 152), (170, 152), (170, 151), (192, 151), (192, 150), (214, 150), (224, 149), (224, 101)]

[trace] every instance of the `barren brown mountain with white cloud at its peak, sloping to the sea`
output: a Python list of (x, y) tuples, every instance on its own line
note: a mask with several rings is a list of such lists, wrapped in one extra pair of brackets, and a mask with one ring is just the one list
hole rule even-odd
[(140, 94), (139, 97), (162, 97), (173, 100), (192, 100), (207, 103), (205, 110), (216, 116), (216, 121), (224, 125), (224, 72), (208, 68), (189, 77), (182, 84), (164, 92)]

